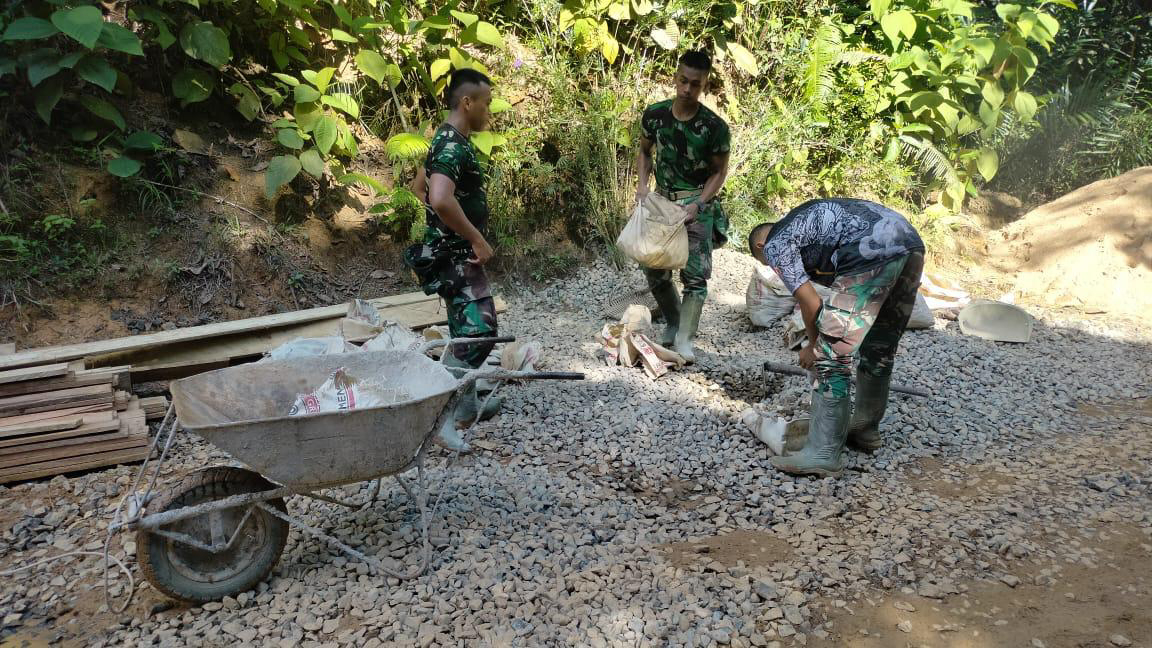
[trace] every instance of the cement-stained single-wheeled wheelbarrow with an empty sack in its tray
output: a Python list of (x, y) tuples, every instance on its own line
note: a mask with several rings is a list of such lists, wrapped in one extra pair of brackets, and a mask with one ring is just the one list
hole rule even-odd
[[(159, 458), (145, 461), (132, 495), (109, 532), (136, 532), (144, 577), (159, 592), (189, 602), (236, 595), (262, 582), (280, 560), (289, 526), (318, 536), (399, 579), (423, 574), (431, 562), (424, 458), (432, 436), (476, 380), (583, 379), (583, 374), (477, 369), (454, 375), (425, 355), (435, 346), (490, 344), (513, 338), (437, 340), (420, 351), (382, 351), (265, 361), (209, 371), (172, 384), (169, 408), (153, 439)], [(288, 416), (301, 393), (335, 369), (396, 387), (396, 402)], [(244, 467), (215, 466), (185, 475), (153, 495), (157, 476), (180, 429), (199, 435)], [(151, 468), (151, 476), (147, 473)], [(416, 470), (416, 488), (403, 474)], [(348, 508), (373, 504), (380, 481), (394, 477), (420, 512), (418, 564), (389, 567), (288, 514), (285, 498), (304, 496)], [(359, 503), (321, 489), (376, 481)], [(146, 488), (141, 485), (146, 482)], [(433, 511), (434, 512), (434, 511)]]

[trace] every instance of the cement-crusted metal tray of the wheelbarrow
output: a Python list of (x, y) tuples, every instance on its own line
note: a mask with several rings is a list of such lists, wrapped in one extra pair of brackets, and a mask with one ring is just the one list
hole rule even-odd
[[(336, 369), (406, 390), (379, 407), (288, 416)], [(407, 468), (435, 431), (458, 380), (417, 352), (357, 352), (265, 361), (172, 384), (184, 429), (268, 480), (300, 489), (373, 480)]]

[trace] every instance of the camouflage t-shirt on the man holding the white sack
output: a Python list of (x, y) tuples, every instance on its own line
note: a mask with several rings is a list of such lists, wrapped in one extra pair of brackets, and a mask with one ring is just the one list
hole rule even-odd
[(667, 191), (699, 189), (712, 175), (712, 158), (732, 150), (732, 134), (720, 115), (700, 104), (696, 115), (680, 121), (672, 99), (652, 104), (641, 118), (652, 142), (655, 183)]

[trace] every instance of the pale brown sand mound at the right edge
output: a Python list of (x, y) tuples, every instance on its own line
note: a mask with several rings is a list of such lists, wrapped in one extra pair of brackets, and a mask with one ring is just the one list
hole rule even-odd
[(990, 261), (1048, 306), (1152, 312), (1152, 167), (1093, 182), (992, 233)]

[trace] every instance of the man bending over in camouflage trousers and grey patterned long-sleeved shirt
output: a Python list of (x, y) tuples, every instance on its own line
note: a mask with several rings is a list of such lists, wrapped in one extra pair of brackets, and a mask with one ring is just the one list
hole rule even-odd
[[(924, 242), (900, 213), (849, 198), (809, 201), (779, 223), (758, 225), (748, 240), (752, 256), (796, 296), (810, 340), (799, 363), (816, 369), (804, 450), (773, 457), (772, 465), (794, 474), (839, 474), (846, 443), (865, 452), (880, 447), (896, 347), (924, 270)], [(832, 289), (827, 301), (813, 282)]]

